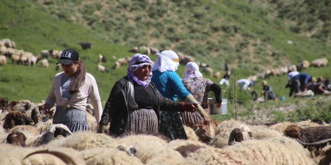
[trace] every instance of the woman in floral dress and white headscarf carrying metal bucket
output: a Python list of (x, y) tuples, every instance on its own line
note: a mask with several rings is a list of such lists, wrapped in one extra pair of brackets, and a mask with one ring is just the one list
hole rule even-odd
[[(199, 66), (195, 62), (189, 62), (186, 64), (183, 76), (183, 85), (194, 96), (194, 98), (197, 99), (198, 103), (208, 115), (210, 115), (207, 103), (209, 91), (213, 91), (215, 93), (217, 108), (221, 107), (221, 87), (213, 83), (211, 80), (203, 78), (199, 71)], [(182, 116), (183, 124), (188, 127), (193, 127), (195, 124), (204, 124), (204, 117), (197, 112), (181, 112), (180, 115)], [(209, 124), (206, 125), (209, 126)]]

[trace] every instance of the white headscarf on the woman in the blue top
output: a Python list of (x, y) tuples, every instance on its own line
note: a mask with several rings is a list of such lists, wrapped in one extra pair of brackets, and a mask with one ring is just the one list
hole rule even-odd
[(158, 56), (158, 58), (156, 59), (152, 71), (159, 70), (163, 73), (166, 71), (174, 72), (178, 69), (179, 57), (174, 51), (165, 50), (161, 53), (156, 53), (156, 55)]

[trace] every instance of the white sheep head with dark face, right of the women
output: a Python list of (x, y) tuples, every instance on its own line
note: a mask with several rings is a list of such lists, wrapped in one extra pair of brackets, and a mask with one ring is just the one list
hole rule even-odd
[(232, 145), (234, 141), (242, 142), (248, 139), (253, 139), (253, 133), (246, 125), (241, 124), (231, 131), (228, 145)]

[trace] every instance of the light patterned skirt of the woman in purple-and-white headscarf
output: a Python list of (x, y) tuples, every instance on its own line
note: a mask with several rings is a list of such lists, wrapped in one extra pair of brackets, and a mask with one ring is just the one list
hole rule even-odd
[(158, 132), (158, 116), (154, 110), (129, 110), (127, 131), (131, 132)]

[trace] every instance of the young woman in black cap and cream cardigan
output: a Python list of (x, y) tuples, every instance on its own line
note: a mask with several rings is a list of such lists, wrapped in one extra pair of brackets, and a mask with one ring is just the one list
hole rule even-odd
[(95, 119), (99, 124), (102, 106), (98, 85), (94, 77), (86, 73), (78, 52), (74, 49), (64, 50), (56, 64), (58, 63), (62, 64), (63, 72), (54, 77), (45, 101), (44, 112), (52, 115), (50, 107), (56, 104), (53, 124), (67, 125), (71, 132), (88, 130), (86, 105), (90, 98)]

